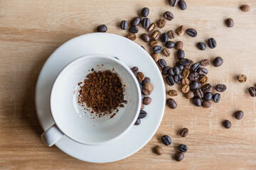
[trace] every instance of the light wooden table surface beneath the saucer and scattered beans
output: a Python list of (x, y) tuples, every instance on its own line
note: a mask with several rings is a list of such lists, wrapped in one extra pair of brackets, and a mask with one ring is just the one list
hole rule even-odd
[[(240, 11), (242, 4), (249, 4), (251, 11)], [(187, 5), (186, 11), (181, 11), (166, 0), (0, 1), (0, 169), (256, 169), (256, 98), (247, 91), (256, 84), (256, 1), (187, 0)], [(174, 13), (174, 20), (168, 21), (162, 32), (181, 25), (198, 30), (196, 38), (183, 35), (174, 39), (184, 42), (186, 57), (194, 62), (223, 57), (221, 67), (208, 67), (213, 86), (228, 86), (220, 103), (213, 103), (208, 109), (196, 108), (181, 94), (180, 86), (166, 86), (166, 91), (178, 89), (179, 94), (174, 97), (178, 108), (166, 107), (156, 135), (139, 152), (119, 162), (82, 162), (57, 147), (43, 145), (34, 91), (44, 62), (67, 40), (95, 32), (103, 23), (108, 26), (108, 33), (127, 35), (119, 28), (119, 22), (130, 21), (144, 6), (150, 8), (153, 22), (165, 11)], [(230, 17), (235, 21), (233, 28), (224, 24)], [(146, 33), (139, 28), (138, 35)], [(218, 42), (215, 49), (196, 48), (196, 42), (210, 37)], [(139, 38), (135, 42), (151, 52)], [(174, 53), (172, 49), (171, 57), (161, 58), (173, 66)], [(235, 79), (238, 74), (247, 75), (245, 84)], [(242, 120), (234, 118), (237, 110), (244, 111)], [(223, 128), (221, 122), (225, 119), (231, 121), (232, 128)], [(183, 127), (189, 129), (185, 138), (178, 135)], [(161, 135), (171, 137), (169, 147), (159, 142)], [(180, 143), (188, 146), (188, 152), (182, 162), (176, 162), (173, 157)], [(163, 147), (163, 155), (152, 152), (156, 145)]]

